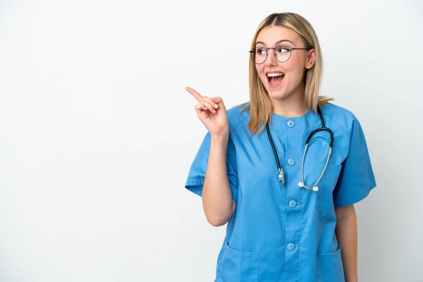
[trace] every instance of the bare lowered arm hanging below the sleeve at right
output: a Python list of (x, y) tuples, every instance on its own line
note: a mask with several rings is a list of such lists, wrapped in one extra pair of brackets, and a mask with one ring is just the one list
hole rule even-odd
[(353, 205), (338, 209), (336, 237), (341, 246), (346, 282), (357, 282), (357, 216)]

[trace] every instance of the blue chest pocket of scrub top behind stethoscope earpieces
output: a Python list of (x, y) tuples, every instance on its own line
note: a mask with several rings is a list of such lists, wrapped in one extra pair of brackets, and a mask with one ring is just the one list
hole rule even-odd
[[(321, 171), (323, 171), (324, 163), (318, 163), (314, 166), (312, 171), (309, 171), (309, 174), (306, 178), (306, 185), (313, 185), (316, 180), (319, 178)], [(335, 189), (336, 183), (338, 182), (339, 173), (341, 173), (341, 164), (328, 164), (326, 171), (324, 171), (323, 176), (317, 187), (319, 191), (312, 192), (315, 194), (315, 205), (316, 209), (321, 212), (321, 214), (328, 214), (334, 212), (335, 208), (333, 205), (333, 190)]]

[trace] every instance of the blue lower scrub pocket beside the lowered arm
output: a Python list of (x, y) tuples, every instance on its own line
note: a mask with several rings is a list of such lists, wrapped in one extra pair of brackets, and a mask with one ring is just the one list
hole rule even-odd
[(345, 282), (341, 247), (335, 252), (317, 254), (317, 282)]

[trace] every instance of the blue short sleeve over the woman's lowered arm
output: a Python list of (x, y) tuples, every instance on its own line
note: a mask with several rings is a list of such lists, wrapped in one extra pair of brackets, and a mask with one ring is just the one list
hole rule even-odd
[(355, 118), (350, 133), (348, 155), (343, 162), (338, 183), (333, 190), (335, 207), (355, 204), (376, 187), (372, 163), (362, 126)]

